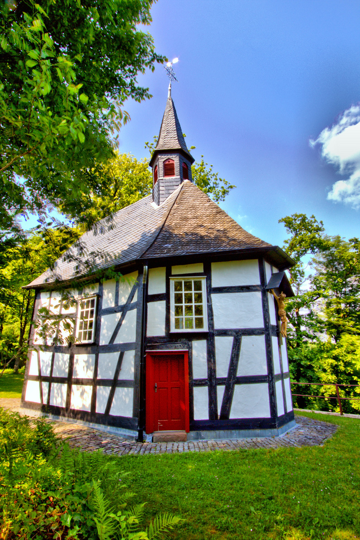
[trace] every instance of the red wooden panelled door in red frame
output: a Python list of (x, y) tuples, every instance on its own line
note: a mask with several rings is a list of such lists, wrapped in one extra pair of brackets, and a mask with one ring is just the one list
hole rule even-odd
[(146, 433), (189, 431), (188, 354), (146, 355)]

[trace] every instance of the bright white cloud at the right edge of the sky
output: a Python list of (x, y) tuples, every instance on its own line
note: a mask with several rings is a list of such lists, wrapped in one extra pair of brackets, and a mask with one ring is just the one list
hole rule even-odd
[(331, 127), (319, 134), (310, 145), (321, 144), (321, 155), (338, 172), (346, 175), (328, 193), (328, 199), (360, 207), (360, 103), (344, 111)]

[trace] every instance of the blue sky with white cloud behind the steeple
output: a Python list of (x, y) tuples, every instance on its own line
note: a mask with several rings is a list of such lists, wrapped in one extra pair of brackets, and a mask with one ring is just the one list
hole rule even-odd
[[(192, 154), (237, 186), (222, 208), (275, 245), (295, 212), (358, 237), (358, 0), (159, 0), (152, 18), (157, 52), (179, 58), (172, 97)], [(138, 80), (154, 97), (125, 104), (119, 151), (142, 158), (168, 80), (162, 66)]]

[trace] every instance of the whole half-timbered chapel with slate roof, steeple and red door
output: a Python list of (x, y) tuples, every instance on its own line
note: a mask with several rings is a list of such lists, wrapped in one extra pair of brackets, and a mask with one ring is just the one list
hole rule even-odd
[(270, 292), (292, 295), (284, 271), (294, 261), (199, 190), (192, 163), (169, 90), (152, 194), (80, 239), (89, 256), (111, 254), (96, 275), (111, 266), (115, 278), (79, 273), (65, 254), (56, 275), (27, 286), (33, 319), (45, 307), (56, 332), (30, 330), (22, 407), (139, 441), (278, 436), (295, 426)]

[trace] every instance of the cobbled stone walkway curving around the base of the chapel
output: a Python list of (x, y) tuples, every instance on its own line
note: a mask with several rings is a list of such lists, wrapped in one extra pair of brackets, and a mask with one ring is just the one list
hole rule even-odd
[[(0, 399), (0, 407), (19, 411), (19, 399)], [(30, 416), (30, 411), (29, 411)], [(174, 454), (183, 452), (207, 452), (211, 450), (238, 450), (240, 448), (281, 448), (321, 446), (337, 430), (335, 424), (296, 416), (297, 426), (281, 437), (239, 438), (211, 441), (189, 441), (176, 443), (140, 443), (125, 440), (118, 435), (103, 433), (97, 429), (70, 422), (54, 422), (54, 430), (67, 439), (70, 447), (85, 451), (102, 449), (104, 454), (124, 456), (126, 454)]]

